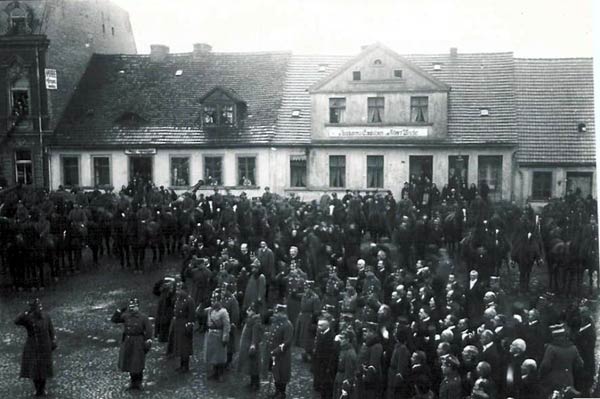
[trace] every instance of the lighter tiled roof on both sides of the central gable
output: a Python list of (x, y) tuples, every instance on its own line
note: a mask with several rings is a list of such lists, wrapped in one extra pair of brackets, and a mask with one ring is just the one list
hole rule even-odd
[[(448, 100), (449, 144), (516, 144), (514, 62), (512, 53), (408, 55), (416, 66), (451, 87)], [(286, 75), (275, 142), (310, 142), (310, 94), (307, 89), (351, 57), (293, 55)], [(442, 69), (434, 71), (434, 64)], [(319, 65), (326, 71), (319, 72)], [(488, 108), (490, 116), (480, 116)], [(300, 117), (292, 117), (299, 109)]]

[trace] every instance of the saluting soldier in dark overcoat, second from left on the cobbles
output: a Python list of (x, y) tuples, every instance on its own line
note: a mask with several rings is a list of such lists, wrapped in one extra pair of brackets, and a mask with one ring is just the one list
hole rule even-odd
[(119, 369), (128, 372), (131, 378), (129, 389), (142, 389), (146, 353), (152, 346), (152, 324), (148, 316), (140, 312), (137, 298), (129, 300), (129, 305), (117, 309), (113, 323), (123, 323), (123, 335), (119, 351)]

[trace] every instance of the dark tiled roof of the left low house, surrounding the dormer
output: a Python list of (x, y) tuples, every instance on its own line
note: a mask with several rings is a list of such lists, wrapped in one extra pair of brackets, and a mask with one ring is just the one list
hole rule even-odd
[[(275, 131), (290, 53), (94, 55), (55, 130), (54, 146), (239, 145)], [(181, 76), (176, 71), (181, 70)], [(200, 98), (216, 86), (246, 102), (238, 128), (203, 129)], [(142, 123), (117, 123), (124, 113)]]

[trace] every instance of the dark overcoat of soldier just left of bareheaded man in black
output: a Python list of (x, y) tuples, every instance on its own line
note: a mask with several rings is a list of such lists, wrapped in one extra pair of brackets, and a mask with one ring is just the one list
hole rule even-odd
[(273, 380), (275, 383), (287, 384), (292, 377), (294, 327), (283, 314), (276, 314), (272, 323), (273, 335), (267, 350), (273, 358)]

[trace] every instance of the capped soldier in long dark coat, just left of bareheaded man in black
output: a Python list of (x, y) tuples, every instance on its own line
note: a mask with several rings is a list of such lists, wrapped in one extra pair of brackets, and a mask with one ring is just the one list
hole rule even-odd
[(267, 350), (271, 356), (270, 370), (275, 381), (275, 399), (285, 399), (285, 390), (292, 376), (292, 341), (294, 327), (287, 317), (287, 306), (277, 305), (271, 320), (272, 336)]

